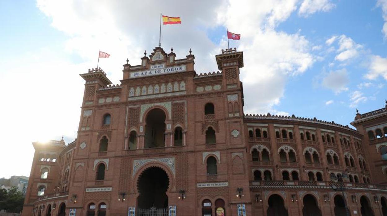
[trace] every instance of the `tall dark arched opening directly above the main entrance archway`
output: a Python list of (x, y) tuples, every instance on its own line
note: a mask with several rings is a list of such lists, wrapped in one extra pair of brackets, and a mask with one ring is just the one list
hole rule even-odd
[(144, 148), (165, 146), (165, 118), (165, 112), (161, 109), (156, 108), (148, 112)]

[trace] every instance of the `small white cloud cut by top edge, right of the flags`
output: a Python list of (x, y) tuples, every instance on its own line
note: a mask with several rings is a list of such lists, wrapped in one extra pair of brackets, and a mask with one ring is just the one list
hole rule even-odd
[(330, 0), (304, 0), (301, 3), (298, 14), (307, 17), (315, 12), (328, 12), (336, 7)]

